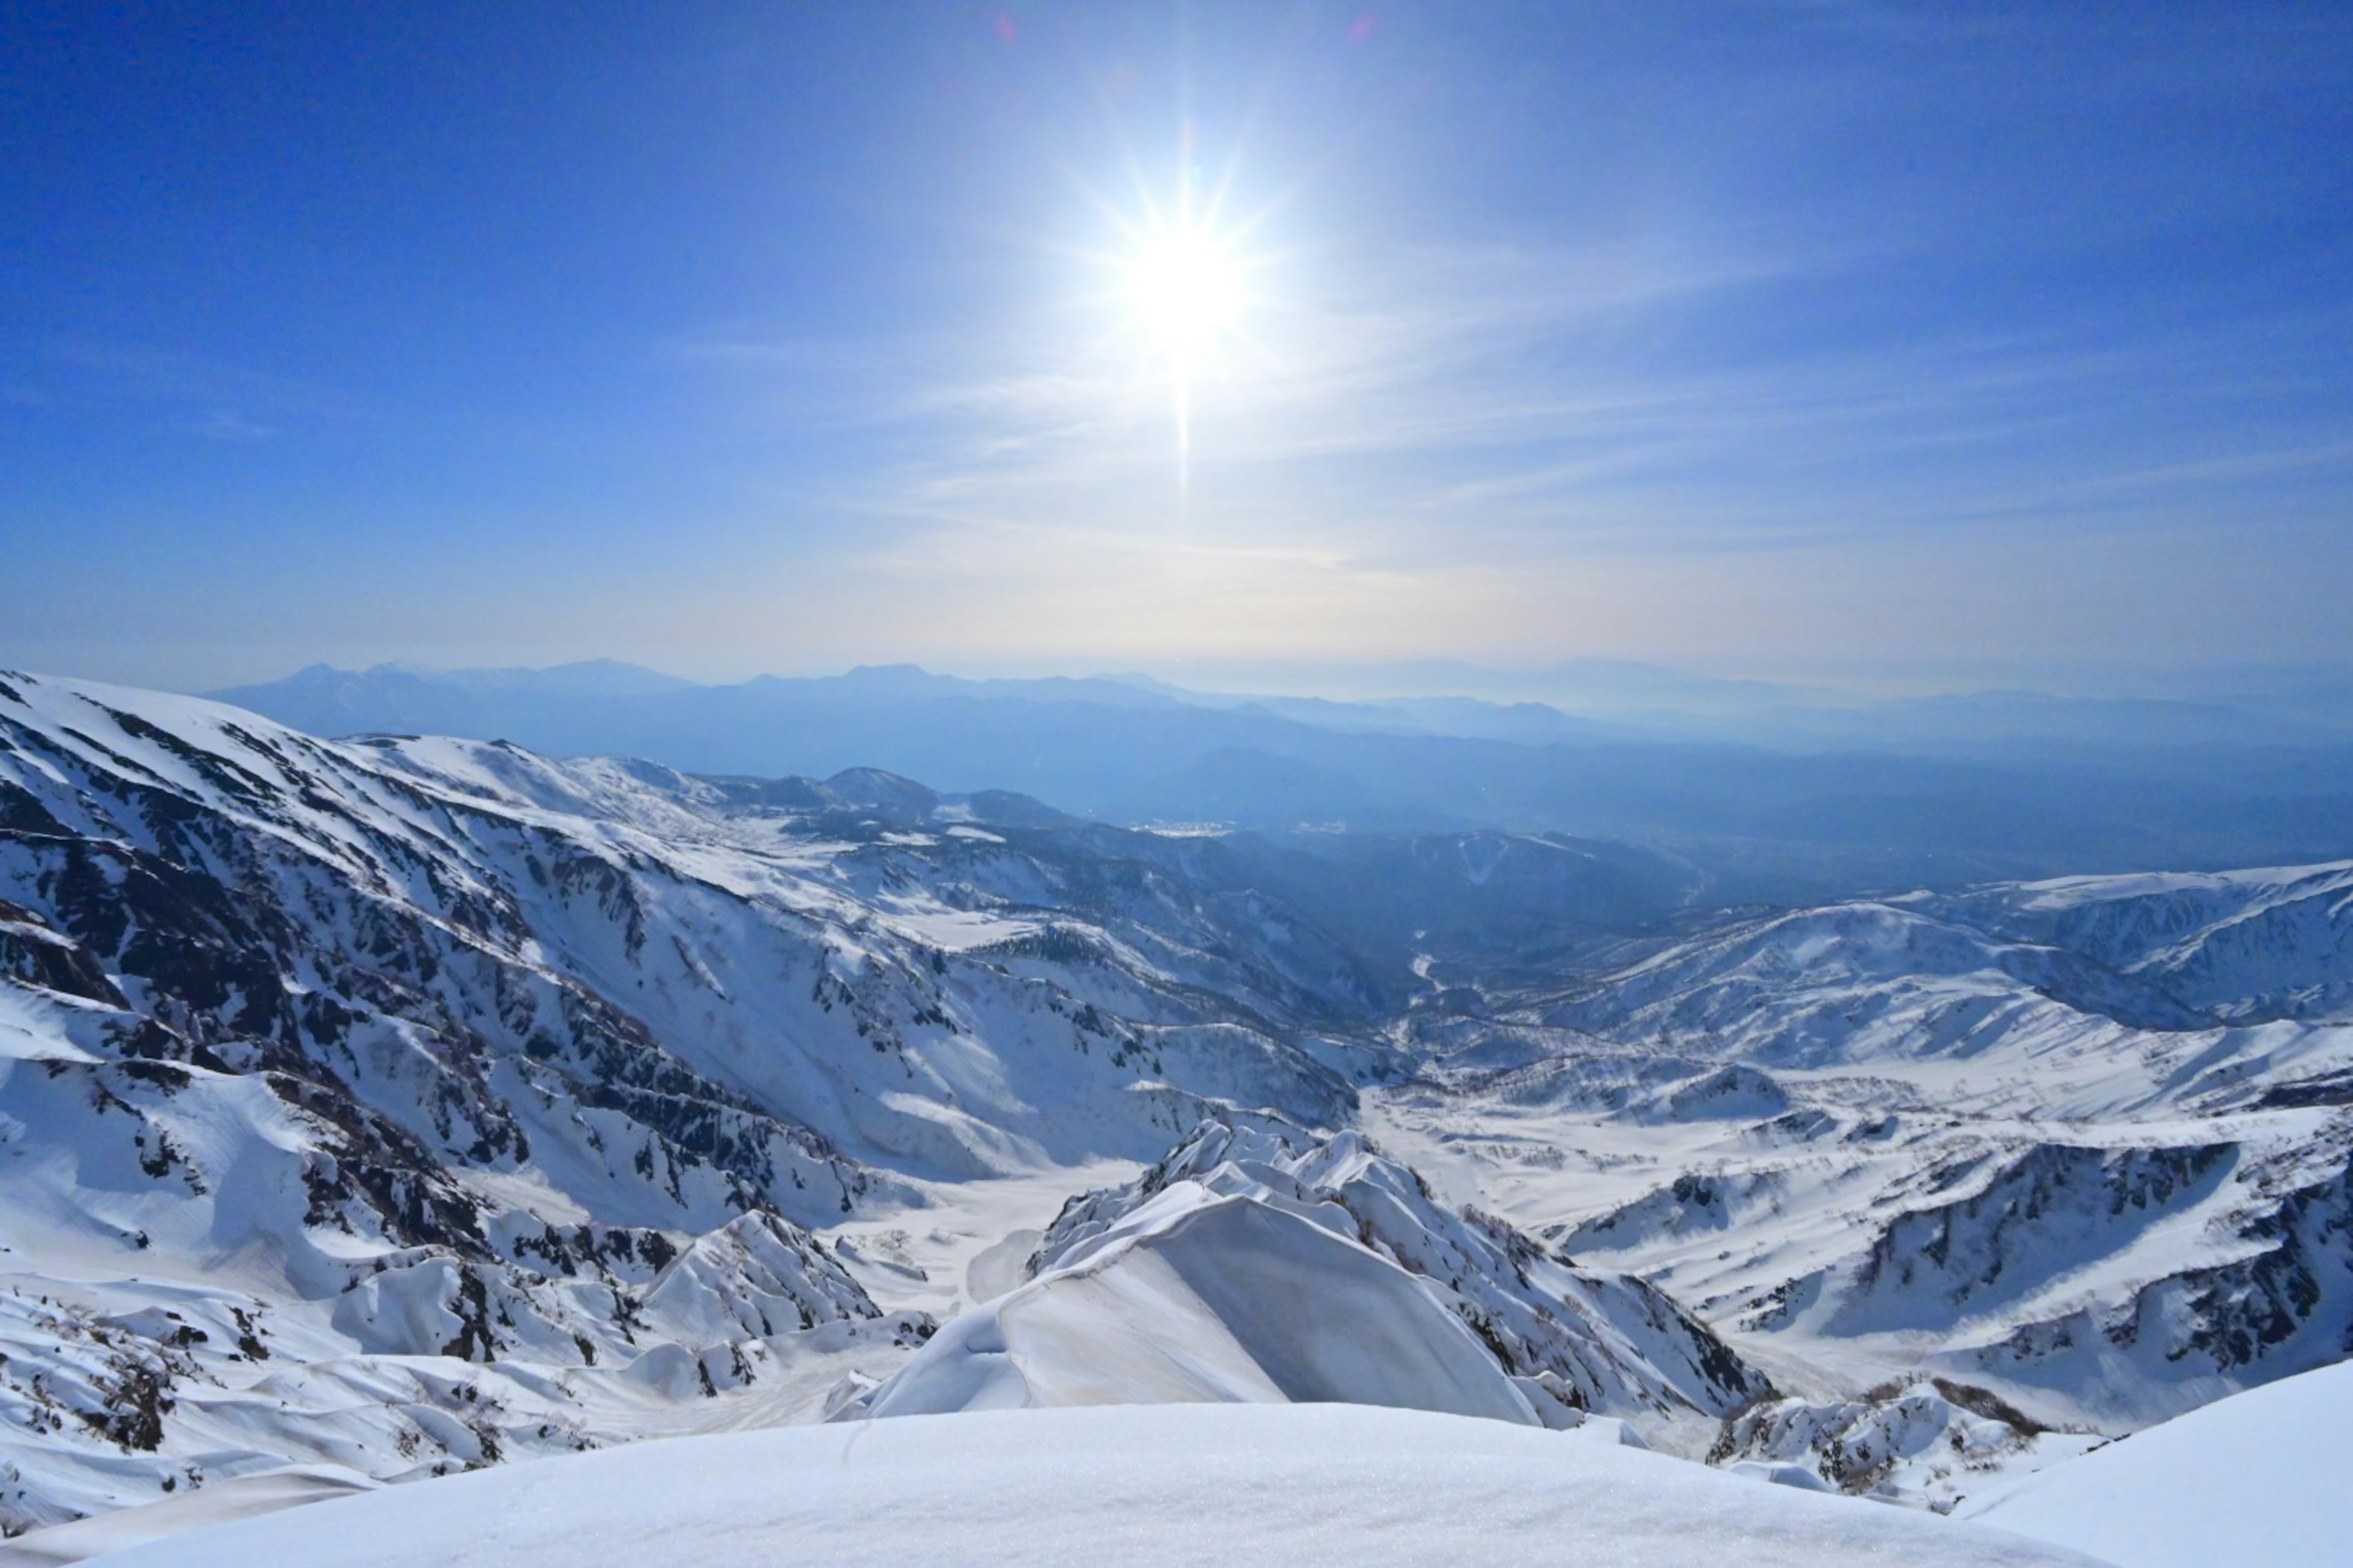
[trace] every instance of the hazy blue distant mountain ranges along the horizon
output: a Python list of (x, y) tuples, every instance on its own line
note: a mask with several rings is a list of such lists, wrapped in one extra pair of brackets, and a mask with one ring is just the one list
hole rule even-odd
[[(1438, 677), (1504, 679), (1398, 672)], [(1242, 698), (1146, 677), (958, 679), (913, 665), (732, 686), (612, 663), (315, 665), (214, 696), (318, 736), (506, 738), (692, 773), (878, 766), (953, 790), (1024, 790), (1108, 823), (1640, 842), (1678, 858), (1708, 903), (2353, 853), (2353, 703), (2341, 693), (1835, 703), (1664, 677), (1560, 672), (1600, 719), (1532, 701)]]

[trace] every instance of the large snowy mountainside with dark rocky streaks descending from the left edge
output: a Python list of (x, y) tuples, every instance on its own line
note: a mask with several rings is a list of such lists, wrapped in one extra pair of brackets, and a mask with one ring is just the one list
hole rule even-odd
[(805, 1225), (1346, 1114), (1346, 961), (981, 811), (0, 675), (0, 1526), (814, 1418), (932, 1324)]

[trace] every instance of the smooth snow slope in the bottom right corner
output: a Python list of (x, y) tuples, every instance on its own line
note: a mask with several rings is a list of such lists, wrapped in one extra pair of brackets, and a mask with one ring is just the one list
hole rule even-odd
[(2348, 1446), (2353, 1366), (2339, 1363), (2191, 1410), (1960, 1512), (2122, 1568), (2322, 1568), (2353, 1556)]

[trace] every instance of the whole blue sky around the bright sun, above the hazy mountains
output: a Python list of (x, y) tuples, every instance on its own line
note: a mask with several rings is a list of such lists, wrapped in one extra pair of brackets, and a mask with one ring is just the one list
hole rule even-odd
[(5, 663), (2353, 658), (2341, 5), (0, 33)]

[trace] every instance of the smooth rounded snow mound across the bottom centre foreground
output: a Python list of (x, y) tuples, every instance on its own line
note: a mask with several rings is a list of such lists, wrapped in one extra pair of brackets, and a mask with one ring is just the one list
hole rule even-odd
[(1106, 1406), (638, 1443), (96, 1561), (2028, 1568), (2097, 1559), (1489, 1420), (1358, 1406)]

